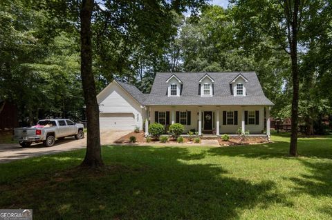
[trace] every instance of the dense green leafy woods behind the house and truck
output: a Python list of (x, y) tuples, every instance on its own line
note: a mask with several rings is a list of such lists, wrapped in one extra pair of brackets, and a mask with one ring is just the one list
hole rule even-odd
[[(24, 123), (85, 118), (77, 3), (0, 3), (0, 99), (15, 103)], [(192, 6), (190, 16), (181, 14), (185, 6), (141, 10), (132, 1), (96, 2), (91, 28), (97, 92), (113, 79), (149, 92), (162, 71), (255, 70), (275, 103), (273, 117), (291, 117), (290, 48), (279, 1), (231, 1), (228, 9), (203, 1)], [(307, 134), (324, 133), (332, 105), (331, 4), (303, 1), (299, 10), (299, 123)]]

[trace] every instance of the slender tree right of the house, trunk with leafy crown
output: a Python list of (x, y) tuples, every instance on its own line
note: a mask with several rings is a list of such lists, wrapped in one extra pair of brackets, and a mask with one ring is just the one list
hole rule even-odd
[[(320, 17), (317, 12), (329, 8), (326, 1), (231, 1), (234, 19), (241, 30), (243, 44), (254, 47), (262, 39), (272, 42), (275, 50), (283, 50), (291, 59), (292, 130), (289, 153), (297, 156), (297, 126), (299, 103), (299, 57), (306, 50), (308, 38), (315, 32), (308, 26)], [(302, 48), (300, 50), (299, 48)]]

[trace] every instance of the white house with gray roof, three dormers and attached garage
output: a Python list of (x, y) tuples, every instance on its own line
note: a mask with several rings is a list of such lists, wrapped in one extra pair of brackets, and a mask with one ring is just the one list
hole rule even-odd
[[(160, 72), (149, 94), (114, 80), (100, 94), (100, 129), (149, 134), (149, 123), (181, 123), (185, 132), (270, 136), (270, 107), (255, 72)], [(266, 121), (266, 125), (264, 125)]]

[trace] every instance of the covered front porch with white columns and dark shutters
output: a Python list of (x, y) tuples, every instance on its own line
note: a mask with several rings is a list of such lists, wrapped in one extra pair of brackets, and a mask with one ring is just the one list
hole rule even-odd
[(148, 106), (146, 111), (145, 135), (149, 135), (149, 123), (161, 123), (166, 129), (181, 123), (185, 134), (192, 130), (203, 137), (236, 135), (239, 128), (270, 137), (269, 106)]

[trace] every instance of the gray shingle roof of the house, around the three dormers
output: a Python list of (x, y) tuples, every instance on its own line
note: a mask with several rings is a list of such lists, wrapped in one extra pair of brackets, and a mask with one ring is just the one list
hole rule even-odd
[[(239, 74), (248, 79), (246, 96), (234, 97), (230, 88), (230, 81)], [(167, 79), (175, 74), (183, 82), (180, 97), (167, 97)], [(199, 79), (207, 72), (160, 72), (156, 74), (150, 94), (143, 94), (135, 86), (117, 81), (124, 90), (144, 106), (176, 106), (176, 105), (266, 105), (273, 103), (267, 99), (261, 89), (261, 84), (255, 72), (208, 72), (214, 79), (213, 97), (199, 95)]]

